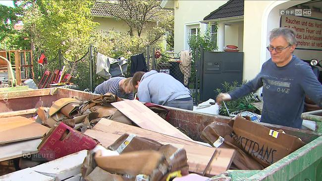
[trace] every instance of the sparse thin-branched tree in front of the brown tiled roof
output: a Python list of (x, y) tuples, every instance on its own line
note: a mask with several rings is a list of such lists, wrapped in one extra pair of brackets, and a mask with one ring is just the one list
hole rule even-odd
[(137, 36), (141, 37), (142, 33), (146, 32), (150, 44), (154, 44), (165, 33), (171, 34), (174, 27), (173, 15), (160, 9), (159, 5), (160, 0), (118, 0), (122, 13), (109, 13), (129, 26), (130, 36), (134, 36), (136, 32)]

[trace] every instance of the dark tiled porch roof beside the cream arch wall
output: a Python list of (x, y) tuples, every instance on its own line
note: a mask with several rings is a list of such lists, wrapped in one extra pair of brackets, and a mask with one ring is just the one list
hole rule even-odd
[(244, 15), (244, 0), (229, 0), (215, 11), (211, 12), (204, 20), (212, 20), (218, 18), (228, 18)]

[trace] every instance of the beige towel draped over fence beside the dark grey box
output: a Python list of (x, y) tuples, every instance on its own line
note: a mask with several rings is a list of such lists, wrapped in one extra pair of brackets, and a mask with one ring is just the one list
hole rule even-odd
[(181, 51), (181, 54), (180, 54), (181, 63), (179, 64), (179, 67), (180, 67), (180, 70), (184, 76), (183, 84), (185, 86), (188, 85), (189, 78), (191, 75), (191, 59), (192, 59), (192, 57), (190, 56), (190, 53), (188, 50)]

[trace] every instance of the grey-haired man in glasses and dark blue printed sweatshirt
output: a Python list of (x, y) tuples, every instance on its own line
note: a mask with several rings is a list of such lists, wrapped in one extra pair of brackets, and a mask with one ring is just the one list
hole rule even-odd
[(292, 55), (295, 36), (288, 28), (273, 29), (267, 47), (271, 58), (263, 64), (261, 72), (242, 87), (220, 93), (216, 102), (237, 99), (263, 86), (261, 122), (302, 128), (305, 94), (322, 107), (322, 85), (309, 64)]

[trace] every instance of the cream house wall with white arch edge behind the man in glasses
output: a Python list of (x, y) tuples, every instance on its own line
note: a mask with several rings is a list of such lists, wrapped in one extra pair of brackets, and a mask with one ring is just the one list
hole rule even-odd
[[(244, 69), (243, 79), (253, 79), (270, 58), (266, 46), (269, 45), (269, 32), (280, 27), (280, 9), (288, 9), (308, 0), (245, 0), (244, 4)], [(316, 16), (316, 15), (315, 15)], [(312, 17), (314, 17), (312, 15)], [(322, 51), (295, 50), (302, 59), (318, 56)]]

